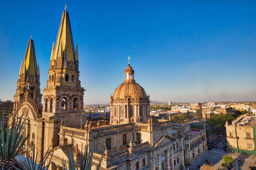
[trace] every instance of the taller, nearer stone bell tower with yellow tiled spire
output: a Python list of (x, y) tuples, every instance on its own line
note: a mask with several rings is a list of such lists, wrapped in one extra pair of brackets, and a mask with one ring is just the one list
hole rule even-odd
[(49, 79), (44, 88), (43, 117), (79, 125), (84, 113), (84, 88), (80, 85), (78, 50), (74, 49), (69, 13), (62, 13), (56, 43), (52, 46)]

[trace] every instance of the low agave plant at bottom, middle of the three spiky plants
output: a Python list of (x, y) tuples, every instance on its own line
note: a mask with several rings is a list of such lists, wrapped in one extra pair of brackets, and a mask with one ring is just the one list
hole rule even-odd
[[(33, 148), (33, 155), (31, 160), (28, 159), (29, 155), (28, 155), (28, 152), (26, 152), (26, 160), (23, 162), (23, 165), (21, 165), (21, 168), (17, 168), (15, 166), (13, 166), (13, 168), (15, 168), (16, 170), (21, 170), (21, 169), (22, 170), (48, 170), (52, 162), (51, 162), (51, 158), (49, 160), (49, 163), (46, 163), (46, 160), (49, 158), (50, 155), (52, 158), (53, 153), (51, 154), (51, 152), (49, 152), (49, 149), (48, 149), (44, 157), (39, 161), (39, 163), (36, 163), (38, 151), (36, 152), (36, 156), (35, 156), (35, 148)], [(57, 168), (58, 167), (59, 166), (57, 166)]]

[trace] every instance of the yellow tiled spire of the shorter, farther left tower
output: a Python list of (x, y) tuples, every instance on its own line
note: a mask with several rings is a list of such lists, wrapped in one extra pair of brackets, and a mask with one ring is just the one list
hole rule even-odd
[(25, 81), (30, 80), (31, 75), (35, 77), (36, 80), (36, 72), (37, 72), (37, 65), (36, 65), (36, 53), (34, 49), (34, 42), (32, 39), (28, 40), (28, 46), (26, 49), (26, 53), (24, 56), (24, 60), (21, 65), (21, 78)]

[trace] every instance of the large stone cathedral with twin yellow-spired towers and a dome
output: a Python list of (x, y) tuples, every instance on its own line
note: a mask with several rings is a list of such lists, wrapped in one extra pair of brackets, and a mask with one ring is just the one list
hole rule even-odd
[(93, 146), (92, 169), (103, 155), (102, 170), (184, 170), (206, 152), (204, 130), (173, 124), (170, 116), (169, 120), (150, 116), (149, 95), (136, 83), (130, 63), (123, 83), (110, 96), (110, 119), (84, 119), (85, 90), (80, 85), (78, 48), (74, 48), (66, 9), (49, 58), (49, 78), (42, 95), (34, 42), (28, 40), (9, 119), (26, 119), (22, 133), (30, 135), (25, 147), (35, 148), (38, 162), (52, 152), (50, 170), (57, 165), (61, 169), (62, 161), (68, 160), (69, 145), (77, 166), (82, 148)]

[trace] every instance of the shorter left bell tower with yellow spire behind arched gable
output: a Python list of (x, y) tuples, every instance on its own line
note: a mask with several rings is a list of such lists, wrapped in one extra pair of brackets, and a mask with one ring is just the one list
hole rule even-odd
[(36, 53), (34, 48), (34, 42), (31, 39), (28, 40), (26, 53), (20, 65), (19, 78), (17, 81), (17, 89), (14, 97), (13, 111), (18, 108), (20, 101), (24, 95), (30, 98), (41, 110), (41, 98), (40, 93), (40, 73), (39, 64), (36, 63)]

